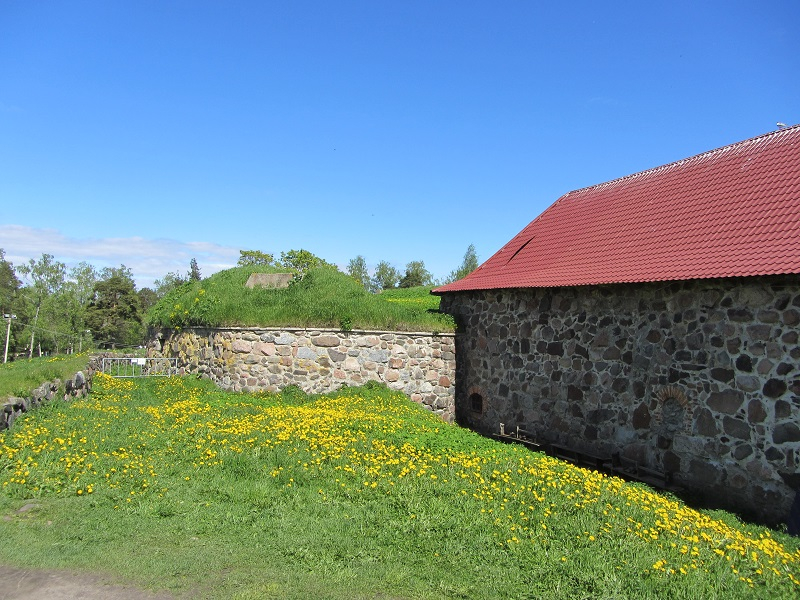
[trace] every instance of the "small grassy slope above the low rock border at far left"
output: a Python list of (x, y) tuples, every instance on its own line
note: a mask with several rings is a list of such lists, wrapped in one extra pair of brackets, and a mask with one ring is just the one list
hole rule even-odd
[(28, 396), (44, 381), (69, 379), (78, 371), (85, 371), (87, 362), (86, 353), (81, 353), (23, 358), (0, 364), (0, 400), (9, 396)]

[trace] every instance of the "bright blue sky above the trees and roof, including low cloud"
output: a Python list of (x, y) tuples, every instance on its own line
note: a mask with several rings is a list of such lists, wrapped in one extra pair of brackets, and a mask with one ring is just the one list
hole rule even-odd
[(481, 261), (566, 192), (800, 122), (800, 2), (0, 1), (0, 247)]

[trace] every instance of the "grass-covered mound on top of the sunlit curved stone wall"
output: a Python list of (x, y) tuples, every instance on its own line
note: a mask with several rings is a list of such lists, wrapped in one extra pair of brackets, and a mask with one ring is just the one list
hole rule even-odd
[(452, 317), (435, 312), (439, 299), (430, 288), (414, 288), (398, 301), (391, 294), (370, 294), (352, 277), (329, 267), (308, 271), (288, 288), (245, 287), (252, 273), (277, 272), (264, 267), (236, 267), (203, 281), (186, 283), (161, 299), (148, 313), (158, 327), (253, 326), (334, 327), (393, 331), (453, 331)]

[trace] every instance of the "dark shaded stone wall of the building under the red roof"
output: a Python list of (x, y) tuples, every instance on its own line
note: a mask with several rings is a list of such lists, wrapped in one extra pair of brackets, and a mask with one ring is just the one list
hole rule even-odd
[(621, 452), (777, 522), (800, 463), (800, 283), (742, 278), (445, 294), (456, 420)]

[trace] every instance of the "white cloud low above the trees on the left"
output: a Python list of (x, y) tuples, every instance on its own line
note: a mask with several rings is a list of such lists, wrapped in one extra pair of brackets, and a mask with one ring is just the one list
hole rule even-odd
[(139, 288), (151, 286), (169, 272), (185, 274), (189, 262), (197, 259), (204, 277), (236, 264), (239, 249), (211, 242), (182, 242), (171, 239), (71, 238), (57, 229), (24, 225), (0, 225), (0, 248), (14, 265), (52, 254), (72, 267), (81, 261), (98, 269), (124, 264), (133, 271)]

